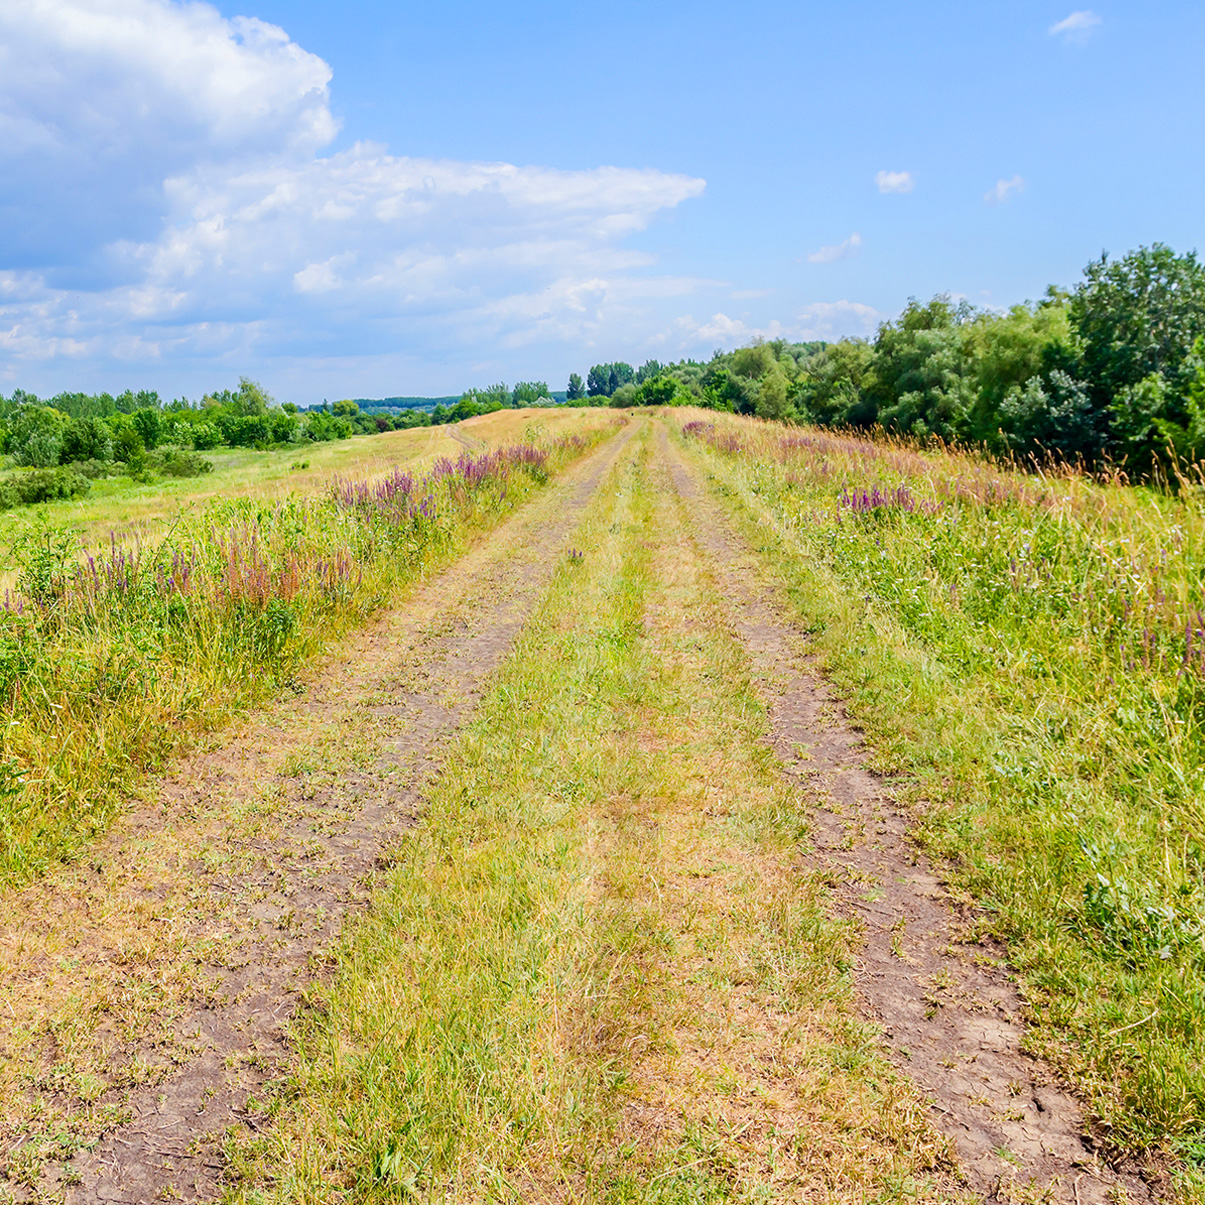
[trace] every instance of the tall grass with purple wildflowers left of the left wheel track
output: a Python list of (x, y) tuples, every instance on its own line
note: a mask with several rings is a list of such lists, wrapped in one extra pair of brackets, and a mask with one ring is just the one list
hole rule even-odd
[(35, 524), (0, 606), (0, 884), (70, 857), (140, 772), (288, 684), (599, 435), (312, 498), (218, 501), (153, 545), (101, 554)]

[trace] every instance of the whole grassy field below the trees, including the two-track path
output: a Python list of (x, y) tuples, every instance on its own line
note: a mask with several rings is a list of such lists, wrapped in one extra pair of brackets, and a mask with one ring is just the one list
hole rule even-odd
[(1205, 1200), (1193, 496), (307, 458), (10, 528), (0, 1199)]

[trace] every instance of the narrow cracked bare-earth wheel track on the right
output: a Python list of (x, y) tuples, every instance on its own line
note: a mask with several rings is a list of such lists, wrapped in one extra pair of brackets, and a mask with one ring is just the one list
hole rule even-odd
[(884, 1053), (928, 1095), (969, 1183), (992, 1201), (1158, 1199), (1156, 1172), (1111, 1166), (1075, 1098), (1023, 1052), (1024, 1001), (1001, 951), (975, 939), (972, 910), (910, 842), (909, 815), (810, 668), (781, 588), (664, 430), (660, 448), (764, 684), (783, 772), (815, 794), (813, 863), (830, 871), (833, 907), (862, 923), (858, 993)]

